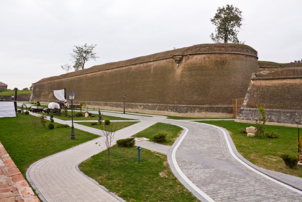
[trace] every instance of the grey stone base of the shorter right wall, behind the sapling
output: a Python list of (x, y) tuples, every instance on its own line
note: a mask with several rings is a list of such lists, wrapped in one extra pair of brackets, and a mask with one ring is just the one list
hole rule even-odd
[[(296, 127), (297, 122), (301, 121), (302, 110), (277, 110), (266, 109), (267, 124), (286, 125)], [(235, 119), (236, 122), (255, 123), (260, 118), (256, 108), (240, 108)], [(302, 123), (300, 122), (299, 125)]]

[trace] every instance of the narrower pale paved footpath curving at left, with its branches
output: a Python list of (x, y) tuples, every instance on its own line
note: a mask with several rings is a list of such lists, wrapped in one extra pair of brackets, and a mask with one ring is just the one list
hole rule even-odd
[[(55, 121), (65, 123), (65, 121), (58, 119)], [(114, 142), (118, 139), (128, 138), (155, 123), (150, 121), (138, 122), (121, 129), (115, 133)], [(98, 135), (101, 134), (99, 129), (79, 124), (74, 124), (74, 127)], [(76, 134), (75, 138), (77, 138)], [(98, 141), (102, 147), (95, 144)], [(78, 163), (101, 152), (102, 148), (105, 148), (104, 138), (98, 138), (42, 159), (28, 171), (30, 180), (47, 201), (119, 201), (76, 170)]]

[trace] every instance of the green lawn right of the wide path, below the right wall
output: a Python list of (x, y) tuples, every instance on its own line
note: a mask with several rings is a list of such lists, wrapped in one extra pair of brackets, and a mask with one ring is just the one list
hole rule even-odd
[(250, 123), (237, 123), (234, 121), (197, 121), (226, 128), (238, 152), (253, 164), (272, 171), (302, 177), (302, 167), (290, 169), (280, 157), (281, 154), (297, 155), (297, 128), (266, 125), (266, 132), (274, 131), (279, 134), (277, 139), (250, 138), (239, 132), (249, 126)]

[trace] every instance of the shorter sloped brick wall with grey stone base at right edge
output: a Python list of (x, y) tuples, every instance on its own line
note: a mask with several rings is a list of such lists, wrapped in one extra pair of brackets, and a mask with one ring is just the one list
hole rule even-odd
[(259, 118), (257, 105), (264, 105), (268, 122), (295, 124), (302, 117), (302, 68), (256, 73), (250, 82), (237, 121)]

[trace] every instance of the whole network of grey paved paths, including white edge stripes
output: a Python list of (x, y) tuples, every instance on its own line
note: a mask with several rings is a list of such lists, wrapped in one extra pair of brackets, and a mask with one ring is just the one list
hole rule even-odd
[[(96, 113), (91, 111), (92, 113)], [(170, 123), (184, 128), (181, 136), (168, 150), (141, 144), (141, 147), (168, 151), (168, 161), (174, 175), (201, 201), (301, 201), (302, 179), (257, 168), (236, 151), (228, 131), (217, 126), (154, 117), (142, 117), (102, 112), (106, 115), (139, 119), (140, 122), (116, 132), (116, 139), (132, 136), (156, 122)], [(66, 121), (55, 120), (66, 123)], [(69, 125), (70, 122), (67, 122)], [(75, 128), (96, 134), (101, 131), (74, 124)], [(76, 135), (76, 134), (75, 134)], [(77, 165), (100, 152), (95, 142), (84, 143), (69, 150), (35, 162), (26, 176), (45, 201), (123, 201), (106, 191), (77, 170)], [(143, 145), (144, 144), (144, 145)], [(105, 148), (102, 146), (101, 148)], [(233, 148), (233, 150), (232, 150)], [(239, 156), (239, 157), (238, 157)], [(258, 169), (255, 170), (253, 167)], [(289, 180), (295, 189), (262, 173), (280, 180)]]

